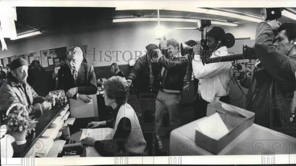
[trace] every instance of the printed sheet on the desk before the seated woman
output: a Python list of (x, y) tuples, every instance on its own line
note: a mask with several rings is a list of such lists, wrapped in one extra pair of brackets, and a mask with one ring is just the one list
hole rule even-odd
[(113, 139), (113, 129), (112, 128), (83, 128), (81, 139), (86, 137), (91, 137), (96, 140), (104, 140), (104, 139)]

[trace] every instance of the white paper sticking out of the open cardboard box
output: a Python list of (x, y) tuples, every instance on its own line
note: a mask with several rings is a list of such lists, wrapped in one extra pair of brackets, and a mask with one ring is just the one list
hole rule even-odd
[(206, 136), (219, 140), (227, 133), (229, 133), (228, 128), (222, 121), (218, 113), (214, 113), (199, 122), (197, 122), (197, 129)]

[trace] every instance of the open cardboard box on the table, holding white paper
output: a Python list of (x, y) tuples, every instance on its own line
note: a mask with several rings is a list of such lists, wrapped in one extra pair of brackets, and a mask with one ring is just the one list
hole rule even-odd
[[(232, 140), (254, 122), (255, 113), (220, 101), (207, 105), (207, 116), (218, 112), (229, 133), (215, 140), (195, 130), (195, 143), (213, 154), (218, 154)], [(218, 131), (217, 131), (218, 132)]]

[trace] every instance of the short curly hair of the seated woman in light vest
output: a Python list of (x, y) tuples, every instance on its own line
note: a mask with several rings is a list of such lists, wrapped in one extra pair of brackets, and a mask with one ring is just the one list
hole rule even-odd
[(104, 84), (107, 97), (114, 99), (116, 104), (123, 104), (128, 98), (129, 87), (126, 79), (112, 76)]

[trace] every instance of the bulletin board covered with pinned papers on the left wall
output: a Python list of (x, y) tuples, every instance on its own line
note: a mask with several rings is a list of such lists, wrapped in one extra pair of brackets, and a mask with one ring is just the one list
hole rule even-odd
[(45, 70), (54, 70), (54, 67), (59, 64), (59, 58), (64, 56), (66, 54), (66, 51), (67, 47), (60, 47), (49, 50), (36, 51), (33, 53), (26, 53), (17, 56), (15, 55), (0, 59), (0, 66), (5, 68), (6, 64), (11, 64), (14, 59), (24, 58), (28, 61), (29, 65), (33, 60), (38, 60)]

